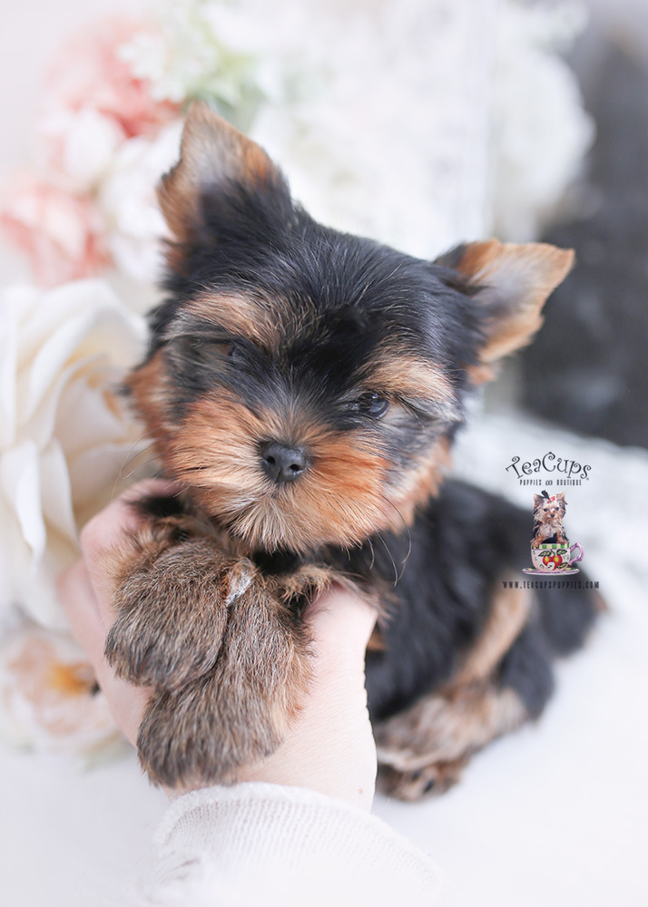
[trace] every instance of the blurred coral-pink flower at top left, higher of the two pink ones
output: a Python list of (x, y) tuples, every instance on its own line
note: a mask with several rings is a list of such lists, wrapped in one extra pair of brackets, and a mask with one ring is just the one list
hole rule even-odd
[(179, 106), (154, 100), (151, 83), (135, 78), (119, 54), (134, 35), (150, 31), (149, 24), (109, 18), (74, 37), (47, 80), (45, 111), (91, 109), (111, 118), (125, 138), (157, 132), (178, 115)]

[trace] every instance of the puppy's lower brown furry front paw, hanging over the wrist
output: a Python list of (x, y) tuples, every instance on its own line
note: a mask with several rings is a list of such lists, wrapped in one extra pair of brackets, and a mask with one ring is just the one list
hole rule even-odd
[(152, 697), (137, 739), (142, 767), (170, 788), (236, 781), (280, 746), (309, 678), (305, 630), (252, 583), (231, 602), (213, 671)]

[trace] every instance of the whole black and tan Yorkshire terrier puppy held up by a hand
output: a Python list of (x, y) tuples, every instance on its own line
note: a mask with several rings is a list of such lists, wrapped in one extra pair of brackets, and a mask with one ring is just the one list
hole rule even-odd
[(385, 781), (415, 798), (539, 714), (579, 591), (501, 580), (527, 516), (442, 484), (466, 396), (541, 324), (572, 253), (461, 246), (435, 262), (320, 226), (258, 145), (194, 104), (159, 188), (166, 301), (127, 381), (174, 498), (110, 552), (106, 655), (152, 689), (155, 782), (229, 782), (309, 689), (305, 606), (330, 583), (382, 618), (367, 658)]

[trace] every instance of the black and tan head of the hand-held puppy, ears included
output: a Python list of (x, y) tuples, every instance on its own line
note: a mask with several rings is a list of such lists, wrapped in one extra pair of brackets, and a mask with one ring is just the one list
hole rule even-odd
[(159, 197), (169, 297), (130, 389), (168, 473), (252, 548), (411, 520), (466, 392), (535, 333), (572, 261), (491, 240), (433, 263), (322, 227), (203, 105)]

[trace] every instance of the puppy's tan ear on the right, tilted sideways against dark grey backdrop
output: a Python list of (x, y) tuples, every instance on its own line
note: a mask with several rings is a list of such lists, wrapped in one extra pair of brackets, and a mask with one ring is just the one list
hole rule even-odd
[(542, 325), (546, 298), (574, 264), (574, 251), (489, 239), (458, 246), (438, 263), (461, 274), (481, 307), (486, 343), (479, 359), (489, 366), (529, 343)]

